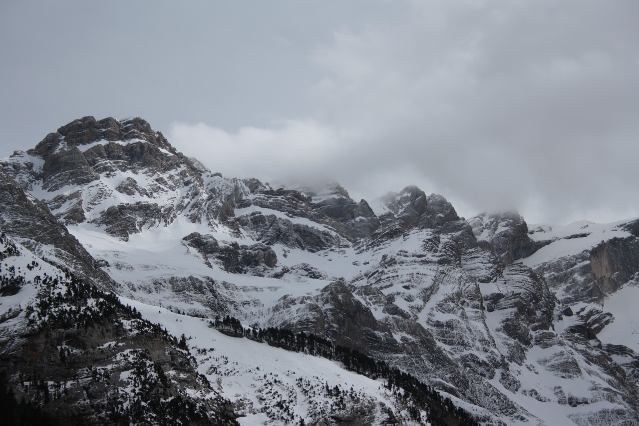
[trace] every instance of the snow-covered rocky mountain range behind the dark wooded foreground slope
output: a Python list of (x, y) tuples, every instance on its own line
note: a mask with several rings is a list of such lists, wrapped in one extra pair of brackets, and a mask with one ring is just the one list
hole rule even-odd
[[(355, 201), (336, 182), (226, 178), (141, 118), (75, 120), (2, 165), (0, 228), (20, 253), (118, 294), (167, 342), (191, 337), (218, 395), (192, 404), (226, 416), (226, 398), (240, 424), (445, 424), (456, 410), (445, 422), (639, 424), (639, 220), (466, 220), (417, 187)], [(220, 334), (224, 318), (242, 331)], [(268, 329), (332, 349), (248, 338)], [(369, 377), (343, 369), (353, 349)], [(408, 374), (408, 402), (364, 360)]]

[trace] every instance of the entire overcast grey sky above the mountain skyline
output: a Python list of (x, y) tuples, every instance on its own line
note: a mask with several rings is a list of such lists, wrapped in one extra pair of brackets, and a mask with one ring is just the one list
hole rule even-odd
[(141, 116), (227, 177), (639, 216), (639, 2), (0, 0), (0, 156)]

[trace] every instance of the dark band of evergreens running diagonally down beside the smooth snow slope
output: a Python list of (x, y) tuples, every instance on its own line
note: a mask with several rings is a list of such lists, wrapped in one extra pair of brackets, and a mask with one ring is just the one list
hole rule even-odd
[(383, 379), (386, 386), (403, 400), (413, 420), (421, 420), (421, 411), (426, 411), (428, 421), (433, 425), (475, 426), (479, 425), (470, 413), (456, 407), (450, 398), (442, 397), (412, 375), (390, 367), (385, 361), (377, 361), (357, 349), (333, 345), (329, 340), (307, 334), (293, 333), (289, 329), (277, 327), (244, 327), (240, 320), (229, 315), (224, 319), (210, 320), (209, 325), (220, 332), (235, 337), (246, 337), (257, 342), (268, 343), (287, 351), (304, 352), (312, 356), (332, 359), (344, 365), (346, 370), (366, 375), (371, 379)]

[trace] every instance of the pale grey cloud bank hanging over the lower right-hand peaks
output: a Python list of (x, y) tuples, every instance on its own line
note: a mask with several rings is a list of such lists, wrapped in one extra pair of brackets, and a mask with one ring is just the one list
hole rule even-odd
[(312, 114), (237, 132), (174, 123), (171, 141), (225, 175), (334, 177), (354, 198), (416, 184), (466, 215), (639, 215), (639, 4), (406, 10), (310, 52)]

